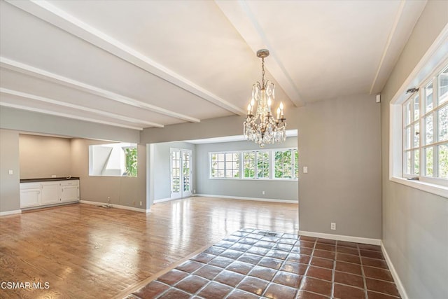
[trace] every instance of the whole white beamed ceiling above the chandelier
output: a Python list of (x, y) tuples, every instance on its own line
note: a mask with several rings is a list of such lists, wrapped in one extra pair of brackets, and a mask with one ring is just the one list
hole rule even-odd
[(426, 1), (3, 1), (1, 106), (142, 130), (377, 94)]

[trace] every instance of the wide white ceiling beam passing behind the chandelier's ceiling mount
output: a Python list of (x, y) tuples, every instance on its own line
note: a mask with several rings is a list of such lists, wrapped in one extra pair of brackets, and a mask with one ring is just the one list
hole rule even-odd
[(267, 40), (265, 32), (262, 30), (246, 1), (215, 0), (215, 3), (221, 8), (221, 11), (223, 11), (230, 23), (232, 23), (235, 29), (237, 29), (237, 32), (239, 32), (244, 41), (253, 50), (253, 53), (257, 53), (261, 48), (267, 48), (269, 50), (270, 56), (273, 58), (269, 60), (269, 66), (266, 67), (269, 73), (274, 76), (277, 83), (279, 83), (295, 106), (304, 106), (305, 102), (300, 97), (300, 93), (293, 79), (290, 78), (288, 71), (286, 71), (283, 63), (276, 55), (275, 47)]

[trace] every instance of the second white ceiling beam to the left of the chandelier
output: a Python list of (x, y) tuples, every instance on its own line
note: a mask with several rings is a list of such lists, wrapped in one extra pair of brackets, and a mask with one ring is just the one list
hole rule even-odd
[(104, 90), (102, 88), (97, 88), (86, 83), (73, 80), (71, 78), (66, 78), (64, 76), (59, 76), (57, 74), (51, 73), (50, 71), (44, 71), (43, 69), (38, 69), (36, 67), (31, 67), (28, 64), (23, 64), (22, 62), (16, 62), (15, 60), (10, 60), (6, 57), (0, 57), (0, 67), (4, 69), (10, 69), (12, 71), (17, 71), (21, 74), (27, 74), (35, 78), (41, 78), (45, 81), (51, 81), (60, 85), (67, 86), (69, 88), (74, 88), (83, 92), (90, 93), (92, 95), (97, 95), (99, 97), (104, 97), (106, 99), (111, 99), (116, 102), (127, 104), (130, 106), (138, 107), (141, 109), (146, 109), (148, 111), (153, 111), (155, 113), (163, 114), (165, 116), (170, 116), (172, 118), (179, 118), (181, 120), (186, 120), (192, 123), (200, 123), (200, 119), (192, 118), (181, 113), (176, 113), (167, 109), (160, 108), (145, 102), (141, 102), (137, 99), (132, 99), (130, 97), (125, 97), (124, 95), (118, 95), (115, 92), (109, 90)]

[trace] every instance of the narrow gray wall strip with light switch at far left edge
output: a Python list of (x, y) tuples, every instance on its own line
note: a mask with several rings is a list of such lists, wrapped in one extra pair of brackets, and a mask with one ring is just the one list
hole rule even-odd
[(19, 209), (19, 133), (0, 129), (0, 212)]

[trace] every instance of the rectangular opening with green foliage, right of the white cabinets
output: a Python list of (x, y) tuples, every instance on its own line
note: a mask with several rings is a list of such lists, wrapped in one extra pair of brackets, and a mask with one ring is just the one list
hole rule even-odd
[(89, 146), (89, 175), (137, 177), (137, 144)]

